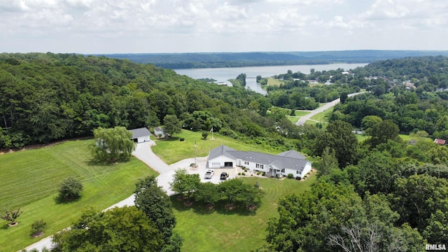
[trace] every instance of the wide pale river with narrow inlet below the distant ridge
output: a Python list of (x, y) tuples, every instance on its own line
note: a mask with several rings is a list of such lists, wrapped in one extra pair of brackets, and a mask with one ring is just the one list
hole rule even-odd
[(226, 83), (232, 85), (228, 80), (235, 79), (240, 73), (246, 73), (246, 87), (259, 92), (260, 94), (266, 94), (266, 90), (262, 89), (261, 85), (257, 83), (255, 77), (262, 76), (263, 78), (279, 75), (281, 73), (287, 73), (288, 70), (296, 73), (309, 74), (311, 69), (316, 71), (328, 71), (336, 69), (344, 69), (348, 71), (355, 69), (358, 66), (365, 66), (365, 63), (356, 64), (312, 64), (312, 65), (289, 65), (289, 66), (246, 66), (246, 67), (222, 67), (222, 68), (207, 68), (207, 69), (174, 69), (176, 73), (186, 75), (190, 78), (213, 78), (218, 83)]

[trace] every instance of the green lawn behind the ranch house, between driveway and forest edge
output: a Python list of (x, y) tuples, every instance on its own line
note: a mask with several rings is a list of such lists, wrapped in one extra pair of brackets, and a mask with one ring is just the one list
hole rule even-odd
[[(181, 138), (185, 141), (179, 141)], [(267, 153), (259, 148), (240, 144), (233, 139), (222, 137), (221, 135), (214, 134), (214, 140), (211, 139), (211, 133), (207, 140), (202, 139), (201, 132), (191, 132), (188, 130), (182, 130), (181, 134), (176, 134), (175, 137), (170, 139), (163, 139), (156, 141), (156, 146), (153, 146), (153, 151), (167, 164), (173, 164), (186, 158), (195, 157), (195, 143), (196, 143), (196, 156), (205, 157), (209, 155), (209, 151), (212, 148), (216, 148), (221, 145), (235, 148), (238, 151), (258, 151)], [(274, 153), (276, 154), (276, 153)]]

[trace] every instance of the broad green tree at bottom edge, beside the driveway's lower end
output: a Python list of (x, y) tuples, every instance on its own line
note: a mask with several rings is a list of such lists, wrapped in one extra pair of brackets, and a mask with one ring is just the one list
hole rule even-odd
[(58, 251), (161, 251), (163, 235), (136, 207), (87, 209), (71, 229), (54, 235)]

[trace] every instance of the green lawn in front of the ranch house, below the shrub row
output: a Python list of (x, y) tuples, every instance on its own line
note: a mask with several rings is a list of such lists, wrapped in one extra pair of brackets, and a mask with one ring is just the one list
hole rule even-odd
[(247, 183), (258, 184), (266, 195), (260, 209), (254, 215), (225, 211), (207, 211), (204, 207), (185, 207), (172, 197), (177, 225), (174, 229), (185, 239), (182, 251), (253, 251), (266, 244), (267, 221), (279, 217), (277, 202), (288, 194), (299, 194), (309, 190), (316, 181), (311, 174), (305, 181), (295, 179), (244, 178)]

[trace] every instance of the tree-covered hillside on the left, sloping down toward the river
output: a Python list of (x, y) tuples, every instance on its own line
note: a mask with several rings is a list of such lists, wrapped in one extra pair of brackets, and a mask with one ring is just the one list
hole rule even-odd
[(183, 120), (205, 110), (215, 129), (239, 131), (257, 120), (232, 113), (260, 98), (151, 64), (52, 53), (1, 54), (0, 93), (0, 148), (92, 135), (97, 127), (156, 127), (167, 115)]

